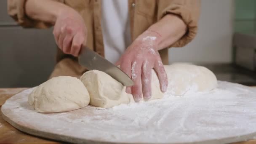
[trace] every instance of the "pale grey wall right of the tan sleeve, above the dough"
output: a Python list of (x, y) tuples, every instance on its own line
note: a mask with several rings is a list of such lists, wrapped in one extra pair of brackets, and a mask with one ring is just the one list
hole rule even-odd
[(169, 61), (231, 62), (233, 3), (233, 0), (202, 0), (197, 36), (183, 48), (171, 48)]

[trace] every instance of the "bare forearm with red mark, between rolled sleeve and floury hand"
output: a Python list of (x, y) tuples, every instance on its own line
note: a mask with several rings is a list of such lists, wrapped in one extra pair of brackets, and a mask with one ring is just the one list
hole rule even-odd
[(148, 29), (157, 36), (157, 50), (175, 43), (187, 32), (187, 26), (179, 16), (168, 14)]

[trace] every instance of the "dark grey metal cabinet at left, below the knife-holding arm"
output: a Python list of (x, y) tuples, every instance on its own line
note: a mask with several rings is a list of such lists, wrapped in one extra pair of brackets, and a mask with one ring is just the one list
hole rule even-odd
[(32, 87), (47, 80), (55, 64), (52, 29), (24, 29), (0, 0), (0, 88)]

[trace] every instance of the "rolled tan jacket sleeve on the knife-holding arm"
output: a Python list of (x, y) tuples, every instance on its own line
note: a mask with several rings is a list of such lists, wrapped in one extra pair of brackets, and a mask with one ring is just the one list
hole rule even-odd
[[(22, 27), (48, 28), (51, 24), (30, 19), (26, 15), (25, 4), (27, 0), (7, 0), (8, 14)], [(64, 0), (56, 0), (64, 3)]]

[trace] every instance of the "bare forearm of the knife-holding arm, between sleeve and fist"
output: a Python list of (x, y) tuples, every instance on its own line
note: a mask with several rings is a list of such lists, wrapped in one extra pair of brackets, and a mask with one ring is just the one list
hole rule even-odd
[(27, 0), (25, 11), (29, 18), (54, 24), (63, 11), (70, 11), (63, 3), (53, 0)]

